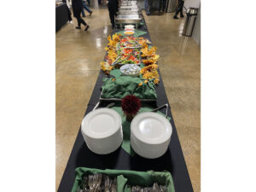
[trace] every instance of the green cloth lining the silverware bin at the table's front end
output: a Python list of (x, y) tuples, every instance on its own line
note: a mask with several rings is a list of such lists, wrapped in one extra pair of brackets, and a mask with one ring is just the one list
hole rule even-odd
[(135, 172), (128, 170), (100, 170), (86, 167), (78, 167), (75, 170), (75, 182), (72, 192), (77, 192), (84, 176), (95, 173), (107, 174), (109, 177), (117, 177), (117, 192), (131, 192), (131, 186), (152, 186), (154, 182), (166, 185), (168, 192), (175, 192), (172, 175), (170, 172)]

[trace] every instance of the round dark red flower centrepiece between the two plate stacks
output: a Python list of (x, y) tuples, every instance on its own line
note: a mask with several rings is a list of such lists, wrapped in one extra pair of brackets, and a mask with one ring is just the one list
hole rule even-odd
[(131, 121), (140, 108), (141, 101), (137, 98), (137, 96), (125, 96), (122, 99), (122, 109), (125, 113), (127, 121)]

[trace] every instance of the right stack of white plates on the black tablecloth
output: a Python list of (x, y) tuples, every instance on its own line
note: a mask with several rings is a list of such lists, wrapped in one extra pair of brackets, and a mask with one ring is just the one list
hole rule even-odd
[(172, 136), (172, 125), (159, 113), (139, 113), (131, 121), (131, 147), (148, 159), (166, 153)]

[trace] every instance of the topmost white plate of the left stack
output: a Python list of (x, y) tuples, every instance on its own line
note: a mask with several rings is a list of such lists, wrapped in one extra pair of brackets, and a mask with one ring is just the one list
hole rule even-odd
[(119, 113), (113, 109), (99, 108), (84, 117), (81, 129), (88, 137), (104, 138), (118, 131), (121, 122)]

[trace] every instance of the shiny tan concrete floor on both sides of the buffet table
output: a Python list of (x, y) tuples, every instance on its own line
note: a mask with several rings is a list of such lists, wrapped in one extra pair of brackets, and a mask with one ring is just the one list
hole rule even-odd
[[(112, 32), (108, 9), (92, 9), (85, 18), (88, 32), (77, 22), (56, 33), (56, 190), (84, 117)], [(88, 13), (87, 13), (88, 15)], [(145, 16), (160, 55), (160, 72), (171, 104), (178, 137), (195, 192), (201, 177), (201, 47), (181, 35), (184, 20), (173, 14)]]

